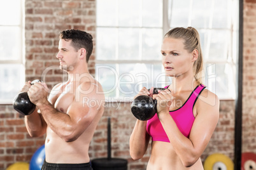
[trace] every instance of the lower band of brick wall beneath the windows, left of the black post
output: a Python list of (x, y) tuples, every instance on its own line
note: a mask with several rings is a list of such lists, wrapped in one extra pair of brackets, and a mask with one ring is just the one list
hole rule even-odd
[[(90, 144), (90, 158), (107, 157), (107, 119), (111, 117), (111, 157), (127, 159), (130, 170), (146, 169), (150, 147), (141, 160), (129, 155), (129, 137), (136, 122), (131, 114), (131, 103), (106, 103), (104, 115), (99, 122)], [(29, 162), (32, 155), (44, 143), (44, 138), (31, 138), (24, 125), (24, 117), (11, 105), (0, 106), (0, 169), (13, 162)], [(208, 147), (202, 155), (204, 160), (215, 152), (234, 158), (234, 101), (220, 102), (220, 121)]]

